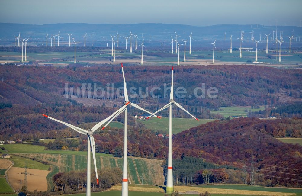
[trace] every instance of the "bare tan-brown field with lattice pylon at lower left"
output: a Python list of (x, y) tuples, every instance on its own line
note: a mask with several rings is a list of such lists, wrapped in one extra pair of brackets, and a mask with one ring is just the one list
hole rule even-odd
[[(29, 191), (47, 191), (47, 181), (46, 176), (50, 171), (40, 170), (40, 169), (27, 169), (27, 188)], [(22, 185), (20, 185), (20, 180), (24, 183), (24, 168), (11, 167), (11, 169), (7, 172), (8, 181), (14, 187), (15, 190), (19, 190)]]

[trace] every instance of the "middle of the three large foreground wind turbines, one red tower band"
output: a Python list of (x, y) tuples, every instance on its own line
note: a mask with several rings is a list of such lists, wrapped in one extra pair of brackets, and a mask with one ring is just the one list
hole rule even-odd
[[(123, 181), (122, 181), (122, 196), (128, 196), (128, 170), (127, 170), (127, 107), (133, 106), (134, 108), (137, 108), (139, 110), (142, 110), (144, 112), (147, 112), (151, 114), (152, 116), (156, 116), (155, 114), (152, 114), (149, 111), (146, 111), (145, 109), (141, 108), (137, 104), (131, 103), (128, 99), (128, 93), (127, 93), (127, 87), (126, 87), (126, 81), (125, 81), (125, 75), (124, 75), (124, 69), (123, 69), (123, 63), (122, 63), (122, 73), (123, 73), (123, 79), (124, 79), (124, 106), (118, 109), (113, 115), (110, 117), (111, 120), (102, 128), (102, 130), (109, 124), (111, 121), (117, 117), (119, 114), (121, 114), (123, 111), (125, 111), (125, 120), (124, 120), (124, 157), (123, 157)], [(159, 116), (156, 116), (160, 118)]]

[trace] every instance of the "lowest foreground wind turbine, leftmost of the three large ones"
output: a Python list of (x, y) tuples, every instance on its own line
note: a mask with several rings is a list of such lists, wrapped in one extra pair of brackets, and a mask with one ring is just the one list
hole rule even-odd
[[(72, 39), (74, 40), (74, 39)], [(75, 43), (76, 44), (76, 43)], [(96, 124), (94, 127), (92, 127), (92, 129), (88, 129), (88, 130), (84, 130), (81, 129), (79, 127), (76, 127), (72, 124), (68, 124), (65, 122), (62, 122), (60, 120), (57, 120), (55, 118), (49, 117), (45, 114), (42, 114), (44, 117), (46, 118), (50, 118), (51, 120), (54, 120), (56, 122), (62, 123), (70, 128), (72, 128), (73, 130), (82, 133), (84, 135), (87, 136), (87, 183), (86, 183), (86, 196), (90, 196), (91, 195), (91, 168), (90, 168), (90, 164), (91, 164), (91, 151), (92, 151), (92, 157), (93, 157), (93, 163), (94, 163), (94, 167), (95, 167), (95, 175), (96, 175), (96, 180), (97, 183), (98, 182), (98, 172), (97, 172), (97, 166), (96, 166), (96, 160), (95, 160), (95, 140), (93, 138), (93, 133), (98, 130), (98, 128), (100, 128), (105, 122), (107, 122), (111, 117), (113, 117), (115, 114), (117, 113), (117, 111), (115, 111), (113, 114), (111, 114), (111, 116), (107, 117), (106, 119), (104, 119), (103, 121), (99, 122), (98, 124)]]

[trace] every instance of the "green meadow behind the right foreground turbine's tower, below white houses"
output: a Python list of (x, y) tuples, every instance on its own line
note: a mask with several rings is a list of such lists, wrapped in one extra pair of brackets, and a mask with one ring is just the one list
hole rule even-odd
[[(169, 118), (149, 118), (150, 120), (138, 120), (137, 122), (143, 123), (147, 129), (162, 131), (163, 133), (169, 133)], [(199, 119), (192, 118), (172, 118), (172, 133), (176, 134), (184, 130), (188, 130), (192, 127), (196, 127), (200, 124), (214, 121), (212, 119)]]

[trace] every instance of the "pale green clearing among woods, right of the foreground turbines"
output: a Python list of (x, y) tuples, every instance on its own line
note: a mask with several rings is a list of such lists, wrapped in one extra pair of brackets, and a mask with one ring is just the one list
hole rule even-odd
[(264, 110), (265, 108), (261, 106), (258, 109), (251, 109), (251, 106), (231, 106), (231, 107), (220, 107), (218, 110), (211, 110), (212, 114), (221, 114), (223, 117), (229, 116), (247, 116), (247, 112), (245, 110), (251, 110), (252, 112)]

